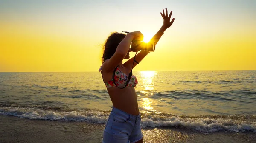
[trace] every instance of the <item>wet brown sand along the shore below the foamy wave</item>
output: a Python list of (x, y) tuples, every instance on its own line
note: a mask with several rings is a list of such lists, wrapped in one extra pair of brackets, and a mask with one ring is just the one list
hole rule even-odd
[[(100, 143), (105, 125), (29, 120), (0, 115), (0, 143)], [(201, 133), (178, 128), (145, 128), (144, 143), (255, 143), (255, 132)]]

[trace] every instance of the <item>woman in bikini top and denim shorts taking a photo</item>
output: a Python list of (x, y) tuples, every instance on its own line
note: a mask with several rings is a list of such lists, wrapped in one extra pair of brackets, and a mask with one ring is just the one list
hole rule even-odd
[[(170, 21), (172, 11), (168, 16), (167, 9), (166, 11), (163, 10), (161, 15), (163, 26), (151, 39), (151, 42), (155, 42), (155, 44), (163, 32), (174, 22), (174, 18)], [(104, 129), (102, 143), (143, 143), (141, 118), (134, 89), (138, 81), (132, 75), (127, 87), (118, 88), (125, 86), (130, 71), (149, 53), (148, 51), (140, 51), (135, 59), (129, 59), (129, 52), (131, 51), (129, 47), (133, 39), (143, 40), (143, 34), (140, 31), (130, 32), (127, 35), (115, 32), (108, 37), (104, 45), (103, 64), (99, 71), (102, 73), (102, 79), (107, 87), (113, 107)], [(123, 59), (129, 60), (122, 63)]]

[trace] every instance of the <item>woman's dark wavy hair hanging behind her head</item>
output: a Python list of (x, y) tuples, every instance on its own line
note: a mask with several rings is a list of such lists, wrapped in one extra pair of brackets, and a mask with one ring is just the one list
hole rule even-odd
[(125, 38), (126, 34), (113, 32), (108, 39), (105, 41), (103, 46), (102, 64), (106, 59), (110, 59), (111, 56), (116, 52), (116, 48), (119, 43)]

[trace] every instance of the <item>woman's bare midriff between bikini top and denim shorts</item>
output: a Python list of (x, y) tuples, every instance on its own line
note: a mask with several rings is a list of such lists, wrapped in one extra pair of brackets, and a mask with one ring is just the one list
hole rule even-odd
[(125, 87), (123, 89), (111, 87), (108, 88), (108, 94), (113, 103), (113, 107), (131, 115), (139, 115), (137, 94), (134, 87)]

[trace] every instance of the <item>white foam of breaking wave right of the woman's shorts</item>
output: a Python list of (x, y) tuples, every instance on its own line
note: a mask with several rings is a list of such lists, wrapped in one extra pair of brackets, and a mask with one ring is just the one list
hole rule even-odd
[[(149, 117), (149, 118), (148, 118)], [(179, 127), (195, 129), (201, 132), (232, 131), (232, 132), (256, 132), (256, 122), (233, 119), (210, 119), (210, 118), (180, 118), (167, 117), (161, 120), (157, 115), (147, 115), (142, 119), (141, 125), (145, 127)]]

